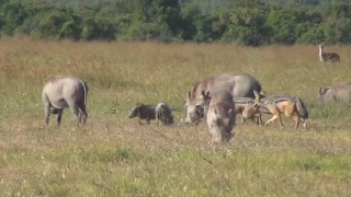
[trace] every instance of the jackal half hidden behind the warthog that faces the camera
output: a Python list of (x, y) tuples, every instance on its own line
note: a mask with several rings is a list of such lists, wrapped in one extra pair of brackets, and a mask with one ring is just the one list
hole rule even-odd
[[(254, 100), (251, 97), (233, 97), (233, 101), (235, 103), (235, 114), (241, 115), (241, 123), (245, 121), (245, 119), (252, 119), (257, 118), (257, 124), (262, 124), (261, 118), (261, 112), (260, 107), (254, 104)], [(204, 113), (207, 113), (208, 105), (211, 102), (211, 95), (210, 91), (206, 93), (202, 91), (201, 96), (197, 99), (197, 105), (201, 105), (204, 108)]]

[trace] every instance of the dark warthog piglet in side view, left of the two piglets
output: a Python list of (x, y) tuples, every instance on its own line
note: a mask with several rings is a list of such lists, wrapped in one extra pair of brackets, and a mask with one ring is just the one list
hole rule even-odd
[(156, 105), (135, 105), (129, 114), (129, 118), (134, 117), (139, 117), (139, 123), (145, 119), (149, 125), (151, 119), (156, 119)]

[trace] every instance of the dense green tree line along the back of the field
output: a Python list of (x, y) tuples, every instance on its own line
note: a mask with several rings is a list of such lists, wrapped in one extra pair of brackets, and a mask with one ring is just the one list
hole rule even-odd
[[(114, 0), (65, 5), (0, 0), (1, 36), (33, 39), (234, 43), (247, 46), (351, 43), (351, 3), (318, 0)], [(329, 1), (333, 2), (333, 1)]]

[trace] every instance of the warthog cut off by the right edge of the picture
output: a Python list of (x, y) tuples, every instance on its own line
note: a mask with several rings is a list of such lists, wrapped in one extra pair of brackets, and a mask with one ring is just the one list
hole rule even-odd
[(351, 102), (351, 82), (320, 88), (317, 100), (322, 104), (328, 102)]

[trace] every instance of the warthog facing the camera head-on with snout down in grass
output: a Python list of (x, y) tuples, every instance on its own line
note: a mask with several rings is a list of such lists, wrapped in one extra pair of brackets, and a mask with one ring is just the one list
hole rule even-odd
[(226, 91), (212, 94), (206, 115), (213, 143), (228, 142), (235, 126), (235, 103), (231, 93)]

